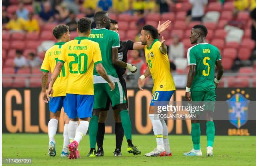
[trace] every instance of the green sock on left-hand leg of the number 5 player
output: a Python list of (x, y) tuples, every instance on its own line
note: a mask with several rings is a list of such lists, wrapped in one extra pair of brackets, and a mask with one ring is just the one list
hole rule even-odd
[(199, 150), (200, 149), (200, 123), (192, 123), (191, 124), (191, 137), (194, 144), (194, 149)]

